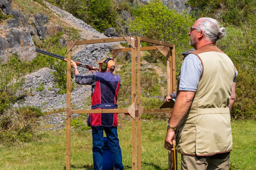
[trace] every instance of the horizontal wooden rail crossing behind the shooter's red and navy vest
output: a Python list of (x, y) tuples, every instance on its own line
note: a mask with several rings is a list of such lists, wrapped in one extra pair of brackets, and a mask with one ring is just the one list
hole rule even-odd
[(74, 110), (74, 114), (86, 113), (129, 113), (127, 109), (81, 109)]

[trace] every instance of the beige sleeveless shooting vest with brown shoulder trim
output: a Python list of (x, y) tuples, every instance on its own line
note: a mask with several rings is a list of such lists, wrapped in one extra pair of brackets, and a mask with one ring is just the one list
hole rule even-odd
[(199, 156), (229, 152), (232, 134), (228, 106), (234, 64), (213, 44), (192, 53), (201, 60), (203, 73), (192, 105), (178, 128), (178, 152)]

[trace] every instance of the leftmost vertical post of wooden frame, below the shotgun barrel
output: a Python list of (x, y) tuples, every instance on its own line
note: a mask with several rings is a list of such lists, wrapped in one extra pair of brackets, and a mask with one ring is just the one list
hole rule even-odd
[[(68, 44), (68, 49), (70, 49)], [(68, 61), (67, 61), (67, 108), (71, 104), (71, 50), (68, 51)], [(68, 114), (68, 109), (67, 109)], [(66, 169), (70, 169), (70, 116), (67, 118), (67, 128), (66, 128)]]

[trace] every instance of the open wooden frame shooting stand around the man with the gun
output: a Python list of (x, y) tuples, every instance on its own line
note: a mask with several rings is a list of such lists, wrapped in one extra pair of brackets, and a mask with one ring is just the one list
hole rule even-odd
[[(119, 52), (131, 51), (132, 53), (132, 105), (128, 109), (82, 109), (73, 110), (71, 105), (71, 49), (75, 45), (82, 44), (94, 44), (94, 43), (105, 43), (105, 42), (118, 42), (127, 41), (131, 48), (118, 48), (113, 49), (112, 59), (116, 62), (116, 55)], [(145, 41), (160, 46), (140, 47), (140, 42)], [(84, 40), (84, 41), (69, 41), (67, 52), (67, 129), (66, 129), (66, 169), (70, 169), (70, 123), (71, 114), (84, 114), (84, 113), (129, 113), (132, 117), (132, 170), (141, 170), (141, 122), (140, 117), (142, 113), (165, 113), (170, 118), (172, 109), (143, 109), (141, 106), (141, 92), (140, 92), (140, 51), (142, 50), (159, 50), (167, 58), (167, 92), (175, 92), (176, 89), (176, 78), (175, 78), (175, 46), (173, 44), (151, 40), (144, 37), (118, 37), (118, 38), (105, 38), (95, 40)], [(137, 52), (137, 69), (136, 69), (136, 52)], [(136, 75), (137, 70), (137, 75)], [(114, 74), (116, 70), (114, 71)], [(136, 81), (137, 77), (137, 81)], [(137, 88), (136, 88), (137, 85)], [(137, 91), (136, 91), (137, 90)], [(137, 97), (137, 101), (136, 101)], [(137, 122), (137, 123), (136, 123)], [(136, 126), (137, 124), (137, 126)], [(137, 136), (136, 136), (137, 129)], [(136, 140), (137, 139), (137, 140)], [(137, 142), (137, 146), (136, 146)], [(137, 155), (136, 155), (137, 147)], [(138, 157), (138, 160), (137, 160)], [(171, 166), (172, 157), (169, 152), (169, 168)], [(137, 167), (138, 165), (138, 167)], [(177, 169), (177, 168), (176, 168)]]

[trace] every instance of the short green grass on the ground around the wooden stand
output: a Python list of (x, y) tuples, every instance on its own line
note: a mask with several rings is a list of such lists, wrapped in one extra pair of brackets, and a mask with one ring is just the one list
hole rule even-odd
[[(118, 137), (124, 168), (132, 169), (132, 122), (119, 115)], [(148, 170), (166, 170), (168, 152), (163, 147), (167, 120), (141, 122), (141, 167)], [(231, 170), (256, 169), (256, 121), (232, 122), (233, 151)], [(104, 134), (105, 135), (105, 134)], [(241, 140), (242, 139), (242, 140)], [(42, 140), (19, 146), (1, 147), (0, 169), (65, 169), (65, 131), (45, 131)], [(70, 169), (92, 170), (92, 132), (71, 132)], [(180, 169), (180, 154), (178, 154)]]

